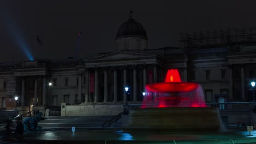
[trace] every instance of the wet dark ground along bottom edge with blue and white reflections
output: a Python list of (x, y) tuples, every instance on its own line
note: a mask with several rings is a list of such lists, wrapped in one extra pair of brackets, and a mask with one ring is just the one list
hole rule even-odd
[[(3, 133), (4, 134), (4, 133)], [(256, 143), (256, 131), (221, 133), (126, 133), (121, 130), (38, 131), (2, 135), (1, 143)]]

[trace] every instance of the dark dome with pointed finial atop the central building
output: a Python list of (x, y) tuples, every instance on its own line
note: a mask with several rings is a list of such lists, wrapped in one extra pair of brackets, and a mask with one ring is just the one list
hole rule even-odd
[(132, 11), (130, 12), (130, 19), (119, 27), (115, 40), (127, 37), (138, 37), (148, 40), (147, 33), (141, 23), (132, 19)]

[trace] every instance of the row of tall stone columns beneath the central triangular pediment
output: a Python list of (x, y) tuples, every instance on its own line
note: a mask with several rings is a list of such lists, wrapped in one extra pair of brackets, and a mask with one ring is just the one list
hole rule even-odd
[[(126, 92), (124, 91), (124, 87), (127, 86), (127, 70), (131, 70), (132, 73), (130, 76), (132, 76), (132, 81), (130, 82), (130, 85), (129, 88), (132, 89), (132, 91), (130, 91), (130, 94), (132, 94), (132, 101), (138, 101), (138, 91), (139, 91), (139, 85), (141, 83), (138, 83), (138, 80), (137, 80), (137, 72), (138, 70), (141, 70), (141, 69), (138, 69), (139, 66), (142, 67), (142, 86), (145, 87), (146, 84), (147, 84), (147, 67), (146, 66), (143, 66), (143, 65), (134, 65), (133, 67), (121, 67), (122, 68), (122, 72), (123, 72), (123, 77), (118, 77), (118, 69), (120, 69), (119, 67), (111, 67), (111, 68), (103, 68), (103, 69), (100, 69), (100, 68), (90, 68), (90, 69), (86, 69), (86, 72), (85, 72), (85, 75), (86, 75), (86, 92), (85, 92), (85, 103), (89, 102), (89, 92), (88, 92), (88, 89), (90, 87), (90, 79), (88, 79), (88, 77), (90, 77), (90, 73), (94, 74), (94, 103), (97, 103), (97, 102), (100, 102), (99, 101), (99, 86), (98, 86), (98, 83), (99, 83), (99, 76), (98, 76), (98, 73), (99, 73), (99, 70), (103, 70), (103, 73), (104, 73), (104, 77), (103, 77), (103, 85), (104, 85), (104, 92), (103, 92), (103, 102), (117, 102), (118, 101), (118, 97), (120, 97), (118, 95), (118, 89), (123, 89), (123, 95), (121, 95), (121, 97), (123, 97), (123, 101), (124, 103), (126, 103)], [(157, 71), (158, 69), (156, 68), (157, 66), (154, 65), (153, 66), (153, 82), (158, 82), (158, 74), (157, 74)], [(112, 82), (112, 85), (113, 85), (113, 100), (109, 101), (108, 100), (108, 97), (109, 97), (109, 92), (108, 92), (108, 85), (110, 83), (109, 81), (109, 77), (108, 77), (108, 69), (112, 69), (112, 74), (113, 74), (113, 80), (111, 80)], [(128, 77), (130, 77), (128, 76)], [(118, 79), (122, 79), (123, 83), (118, 83)], [(79, 86), (80, 87), (80, 86)]]

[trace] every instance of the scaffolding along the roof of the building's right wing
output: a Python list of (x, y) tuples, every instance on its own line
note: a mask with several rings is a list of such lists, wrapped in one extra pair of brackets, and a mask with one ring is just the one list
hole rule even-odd
[(242, 45), (256, 43), (256, 28), (232, 28), (224, 31), (180, 33), (184, 47)]

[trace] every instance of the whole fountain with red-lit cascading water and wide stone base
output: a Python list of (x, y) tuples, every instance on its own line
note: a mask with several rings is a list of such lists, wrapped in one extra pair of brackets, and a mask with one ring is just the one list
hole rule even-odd
[(131, 109), (125, 131), (218, 131), (219, 112), (206, 107), (198, 83), (182, 82), (177, 69), (165, 82), (146, 85), (141, 109)]

